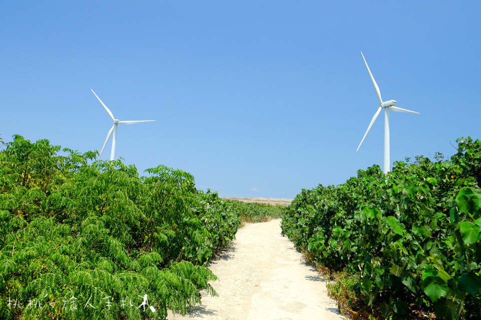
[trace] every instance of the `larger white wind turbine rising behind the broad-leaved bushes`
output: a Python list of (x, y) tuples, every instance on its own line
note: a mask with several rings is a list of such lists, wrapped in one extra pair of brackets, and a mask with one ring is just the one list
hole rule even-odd
[(376, 90), (376, 95), (379, 100), (379, 109), (377, 109), (376, 113), (372, 117), (371, 123), (369, 123), (369, 126), (367, 127), (366, 133), (364, 133), (364, 136), (362, 137), (361, 143), (359, 143), (359, 146), (357, 147), (356, 152), (359, 150), (361, 147), (362, 142), (366, 138), (367, 133), (369, 133), (369, 130), (371, 129), (372, 125), (377, 119), (377, 116), (381, 112), (381, 109), (384, 108), (384, 164), (383, 164), (383, 172), (387, 173), (390, 170), (390, 160), (389, 160), (389, 110), (393, 111), (399, 111), (399, 112), (409, 112), (409, 113), (415, 113), (419, 114), (419, 112), (411, 111), (411, 110), (406, 110), (403, 108), (399, 108), (396, 105), (395, 100), (389, 100), (383, 102), (381, 99), (381, 92), (379, 91), (379, 87), (377, 86), (376, 81), (374, 80), (374, 77), (372, 76), (371, 70), (369, 69), (369, 66), (367, 65), (366, 59), (364, 58), (364, 55), (362, 54), (362, 59), (364, 60), (364, 63), (366, 63), (367, 70), (369, 71), (369, 75), (371, 76), (372, 80), (372, 85), (374, 85), (374, 90)]

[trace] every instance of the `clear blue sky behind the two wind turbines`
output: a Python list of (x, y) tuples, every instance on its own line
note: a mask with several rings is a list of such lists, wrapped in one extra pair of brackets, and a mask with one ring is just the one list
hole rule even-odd
[[(164, 164), (220, 196), (293, 198), (480, 138), (478, 1), (3, 1), (0, 134)], [(101, 159), (110, 157), (107, 144)]]

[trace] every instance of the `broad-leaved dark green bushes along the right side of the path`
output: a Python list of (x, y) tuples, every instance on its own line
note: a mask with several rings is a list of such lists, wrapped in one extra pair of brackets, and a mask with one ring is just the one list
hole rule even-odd
[(359, 299), (385, 318), (481, 318), (481, 141), (458, 142), (450, 161), (421, 156), (303, 189), (283, 234), (318, 265), (355, 274)]

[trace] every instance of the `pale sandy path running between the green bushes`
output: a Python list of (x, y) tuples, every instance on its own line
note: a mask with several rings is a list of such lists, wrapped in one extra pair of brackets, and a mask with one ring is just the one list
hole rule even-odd
[(167, 319), (344, 319), (324, 279), (281, 235), (280, 222), (240, 228), (231, 248), (209, 265), (219, 278), (212, 283), (219, 296), (202, 291), (202, 304), (185, 317), (169, 313)]

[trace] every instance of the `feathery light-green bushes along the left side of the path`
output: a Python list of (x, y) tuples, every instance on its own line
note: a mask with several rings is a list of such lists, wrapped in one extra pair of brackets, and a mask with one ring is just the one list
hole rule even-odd
[(17, 135), (0, 152), (0, 318), (158, 318), (215, 294), (230, 203), (181, 170), (59, 151)]

